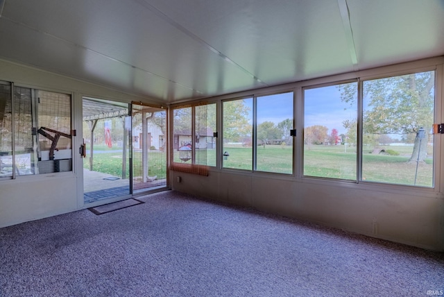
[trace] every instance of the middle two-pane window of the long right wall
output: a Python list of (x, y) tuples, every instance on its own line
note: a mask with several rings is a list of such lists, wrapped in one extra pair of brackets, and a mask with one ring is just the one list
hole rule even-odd
[(293, 173), (293, 92), (223, 101), (223, 167)]

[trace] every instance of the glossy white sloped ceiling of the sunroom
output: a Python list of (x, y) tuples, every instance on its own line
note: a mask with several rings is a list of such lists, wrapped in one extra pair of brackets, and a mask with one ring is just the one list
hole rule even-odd
[(0, 0), (0, 57), (173, 103), (444, 55), (444, 0)]

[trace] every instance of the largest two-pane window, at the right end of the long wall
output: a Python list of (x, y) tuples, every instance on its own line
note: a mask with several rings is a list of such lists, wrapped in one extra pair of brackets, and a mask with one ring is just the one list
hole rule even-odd
[(434, 187), (435, 72), (361, 86), (361, 96), (358, 83), (304, 90), (303, 175)]

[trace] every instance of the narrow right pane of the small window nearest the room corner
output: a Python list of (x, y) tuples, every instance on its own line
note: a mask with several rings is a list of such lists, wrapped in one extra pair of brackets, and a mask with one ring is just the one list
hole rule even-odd
[(216, 166), (216, 104), (196, 106), (196, 164)]

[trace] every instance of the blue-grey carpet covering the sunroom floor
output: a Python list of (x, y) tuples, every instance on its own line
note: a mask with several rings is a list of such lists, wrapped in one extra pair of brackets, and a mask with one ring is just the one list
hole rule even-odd
[[(0, 229), (0, 296), (427, 296), (444, 255), (178, 192)], [(435, 294), (436, 295), (436, 294)]]

